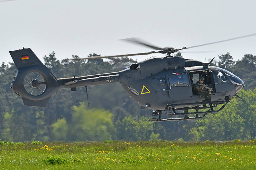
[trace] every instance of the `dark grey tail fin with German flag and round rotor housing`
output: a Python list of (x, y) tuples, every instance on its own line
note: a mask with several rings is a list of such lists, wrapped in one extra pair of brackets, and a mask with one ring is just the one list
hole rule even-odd
[(51, 95), (59, 89), (56, 77), (30, 48), (9, 53), (18, 69), (11, 84), (12, 91), (22, 97), (25, 105), (45, 107)]

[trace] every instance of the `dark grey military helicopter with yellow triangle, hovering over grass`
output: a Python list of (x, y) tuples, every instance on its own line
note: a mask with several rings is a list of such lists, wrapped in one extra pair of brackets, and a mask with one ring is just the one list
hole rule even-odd
[[(234, 39), (254, 36), (250, 34), (233, 39), (227, 39), (214, 43), (230, 41)], [(27, 106), (45, 107), (57, 90), (70, 88), (75, 91), (77, 87), (120, 83), (126, 93), (141, 105), (141, 109), (153, 110), (152, 115), (159, 118), (152, 118), (150, 121), (173, 121), (200, 119), (208, 113), (217, 113), (229, 103), (233, 96), (237, 96), (239, 90), (244, 87), (244, 82), (233, 73), (219, 67), (211, 66), (210, 62), (200, 62), (183, 57), (173, 57), (173, 53), (180, 50), (204, 46), (202, 44), (184, 48), (160, 48), (141, 40), (130, 38), (124, 39), (136, 44), (141, 44), (157, 51), (148, 53), (126, 54), (118, 56), (99, 56), (78, 59), (97, 59), (122, 56), (147, 55), (153, 53), (165, 54), (164, 57), (151, 57), (141, 62), (136, 62), (122, 71), (104, 73), (89, 76), (73, 76), (69, 78), (56, 78), (51, 71), (38, 59), (30, 48), (10, 51), (10, 55), (18, 69), (17, 75), (11, 83), (11, 90), (22, 97), (23, 103)], [(202, 99), (192, 86), (193, 81), (199, 80), (200, 76), (205, 78), (204, 84), (212, 89), (210, 100), (207, 106), (202, 105)], [(224, 104), (218, 110), (214, 107)], [(206, 109), (207, 111), (200, 111)], [(184, 112), (183, 112), (183, 111)], [(188, 112), (188, 110), (192, 112)], [(184, 117), (162, 119), (162, 112), (166, 115)], [(178, 111), (181, 111), (179, 113)], [(188, 115), (195, 114), (195, 117)], [(198, 114), (203, 114), (198, 116)]]

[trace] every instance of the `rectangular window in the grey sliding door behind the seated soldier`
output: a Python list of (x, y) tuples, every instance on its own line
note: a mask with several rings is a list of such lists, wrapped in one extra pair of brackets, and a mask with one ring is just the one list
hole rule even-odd
[(168, 76), (171, 87), (184, 87), (190, 86), (190, 79), (187, 73), (178, 74)]

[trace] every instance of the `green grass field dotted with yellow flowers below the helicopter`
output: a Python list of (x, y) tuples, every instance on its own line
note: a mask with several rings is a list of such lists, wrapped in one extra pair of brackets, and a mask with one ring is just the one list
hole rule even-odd
[(255, 169), (255, 143), (1, 141), (0, 169)]

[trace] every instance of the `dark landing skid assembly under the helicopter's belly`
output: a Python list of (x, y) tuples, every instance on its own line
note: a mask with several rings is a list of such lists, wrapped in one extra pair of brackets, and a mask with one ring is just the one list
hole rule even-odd
[[(159, 114), (159, 118), (158, 119), (153, 118), (153, 119), (150, 119), (149, 121), (152, 121), (152, 122), (163, 122), (163, 121), (175, 121), (175, 120), (201, 119), (204, 116), (206, 116), (208, 113), (217, 113), (217, 112), (221, 111), (227, 104), (228, 103), (225, 103), (221, 108), (219, 108), (219, 110), (216, 110), (216, 111), (213, 110), (213, 106), (212, 106), (212, 104), (210, 104), (210, 106), (196, 106), (196, 107), (192, 107), (192, 108), (180, 108), (180, 109), (178, 109), (178, 110), (195, 109), (196, 112), (193, 112), (193, 113), (176, 113), (176, 109), (174, 107), (172, 108), (173, 113), (165, 113), (166, 115), (169, 115), (169, 116), (185, 115), (182, 118), (161, 119), (162, 110), (157, 110), (157, 111), (153, 112), (153, 116), (156, 116), (156, 115)], [(203, 108), (210, 108), (210, 109), (208, 111), (206, 111), (206, 112), (198, 112), (199, 109), (203, 109)], [(196, 114), (196, 115), (195, 115), (195, 117), (189, 117), (188, 115), (190, 115), (190, 114)], [(198, 116), (198, 114), (203, 114), (203, 115), (202, 116)]]

